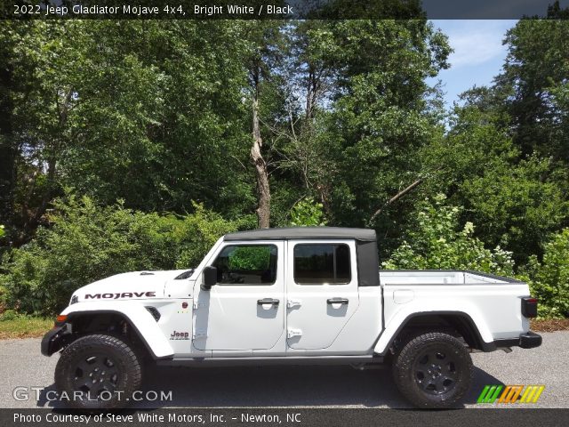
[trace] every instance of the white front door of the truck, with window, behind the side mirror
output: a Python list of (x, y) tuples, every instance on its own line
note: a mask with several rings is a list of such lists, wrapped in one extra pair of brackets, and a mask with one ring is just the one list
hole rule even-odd
[(284, 242), (227, 244), (211, 263), (218, 281), (195, 287), (198, 350), (268, 350), (284, 333)]

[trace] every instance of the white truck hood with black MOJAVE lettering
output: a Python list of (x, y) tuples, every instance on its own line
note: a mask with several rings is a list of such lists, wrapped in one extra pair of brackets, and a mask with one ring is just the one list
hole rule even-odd
[(116, 274), (80, 287), (71, 297), (71, 303), (102, 300), (134, 300), (162, 298), (164, 284), (174, 278), (186, 278), (188, 270), (132, 271)]

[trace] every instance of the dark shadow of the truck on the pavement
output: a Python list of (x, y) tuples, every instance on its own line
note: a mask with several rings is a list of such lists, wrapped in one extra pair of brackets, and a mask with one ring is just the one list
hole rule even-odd
[[(486, 384), (501, 381), (475, 367), (464, 405), (474, 404)], [(66, 407), (48, 401), (38, 407)], [(156, 367), (147, 371), (143, 391), (172, 391), (170, 401), (140, 401), (132, 408), (157, 407), (391, 407), (412, 408), (399, 394), (389, 367)], [(52, 393), (53, 394), (53, 393)], [(144, 393), (142, 393), (144, 394)], [(152, 393), (151, 393), (152, 394)]]

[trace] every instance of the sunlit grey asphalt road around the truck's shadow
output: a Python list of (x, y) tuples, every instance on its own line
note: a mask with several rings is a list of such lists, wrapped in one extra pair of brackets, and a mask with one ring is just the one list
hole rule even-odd
[[(532, 407), (569, 408), (569, 332), (542, 335), (538, 349), (474, 353), (475, 379), (465, 407), (493, 407), (477, 405), (477, 397), (485, 384), (503, 383), (544, 384)], [(0, 341), (0, 407), (60, 407), (60, 402), (46, 399), (46, 391), (53, 390), (57, 356), (45, 358), (39, 348), (39, 339)], [(28, 399), (13, 398), (17, 387), (26, 388)], [(145, 401), (137, 407), (409, 407), (389, 369), (160, 367), (148, 372), (144, 388), (172, 391), (172, 400)]]

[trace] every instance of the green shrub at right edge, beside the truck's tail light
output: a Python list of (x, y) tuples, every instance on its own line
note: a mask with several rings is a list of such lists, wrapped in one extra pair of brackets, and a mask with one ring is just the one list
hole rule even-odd
[(554, 234), (544, 246), (543, 260), (535, 255), (525, 269), (532, 295), (540, 299), (541, 317), (569, 317), (569, 229)]

